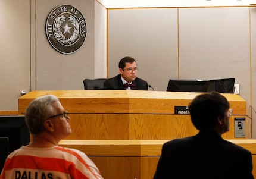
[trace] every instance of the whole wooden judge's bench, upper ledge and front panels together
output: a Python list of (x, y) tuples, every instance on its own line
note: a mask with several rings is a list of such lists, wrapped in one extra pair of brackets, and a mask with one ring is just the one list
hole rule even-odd
[[(189, 115), (174, 114), (175, 106), (188, 106), (199, 93), (126, 90), (37, 91), (19, 98), (19, 114), (38, 96), (58, 96), (70, 113), (73, 134), (66, 139), (163, 140), (187, 137), (198, 131)], [(246, 117), (246, 101), (239, 95), (223, 94), (234, 109), (230, 131), (224, 139), (235, 139), (234, 117)], [(246, 118), (247, 120), (248, 118)], [(246, 121), (250, 138), (251, 121)], [(245, 137), (244, 137), (245, 138)]]

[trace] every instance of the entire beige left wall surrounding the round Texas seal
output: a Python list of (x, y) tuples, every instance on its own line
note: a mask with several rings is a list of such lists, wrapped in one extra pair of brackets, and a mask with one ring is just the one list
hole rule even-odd
[[(52, 48), (45, 32), (49, 12), (64, 4), (82, 12), (88, 27), (82, 48), (70, 55)], [(85, 78), (107, 76), (107, 10), (98, 1), (10, 0), (0, 10), (0, 111), (15, 114), (22, 90), (83, 90)]]

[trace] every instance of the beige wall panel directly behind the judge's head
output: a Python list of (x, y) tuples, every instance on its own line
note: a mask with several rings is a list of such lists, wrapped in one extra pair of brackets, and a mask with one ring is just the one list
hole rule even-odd
[(136, 59), (138, 77), (166, 90), (177, 77), (177, 9), (109, 10), (108, 77), (118, 74), (124, 56)]

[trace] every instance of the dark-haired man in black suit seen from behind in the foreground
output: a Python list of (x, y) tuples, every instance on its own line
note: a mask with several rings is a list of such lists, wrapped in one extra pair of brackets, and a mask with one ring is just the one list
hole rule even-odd
[(198, 95), (189, 112), (199, 133), (164, 143), (154, 179), (254, 178), (251, 152), (221, 137), (232, 115), (227, 99), (217, 92)]

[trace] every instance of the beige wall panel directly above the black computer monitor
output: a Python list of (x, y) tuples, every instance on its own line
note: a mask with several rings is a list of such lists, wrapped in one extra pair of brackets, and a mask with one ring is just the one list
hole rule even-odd
[(181, 8), (180, 78), (235, 77), (249, 101), (249, 32), (249, 8)]

